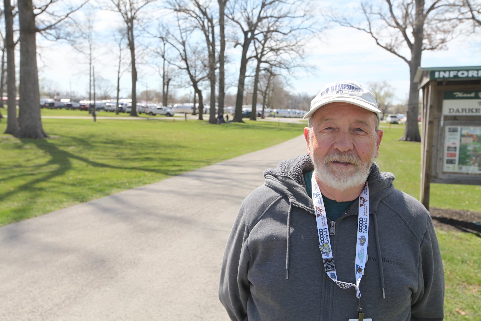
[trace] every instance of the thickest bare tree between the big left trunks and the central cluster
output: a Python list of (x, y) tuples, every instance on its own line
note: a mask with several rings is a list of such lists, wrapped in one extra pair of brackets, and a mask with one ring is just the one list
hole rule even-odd
[(139, 22), (140, 10), (156, 0), (110, 0), (115, 11), (122, 15), (127, 28), (127, 41), (130, 50), (130, 66), (132, 76), (132, 110), (130, 116), (137, 115), (137, 66), (135, 60), (135, 24)]

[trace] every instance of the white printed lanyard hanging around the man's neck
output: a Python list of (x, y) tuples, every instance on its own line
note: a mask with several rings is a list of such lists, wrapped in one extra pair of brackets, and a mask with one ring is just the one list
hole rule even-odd
[(329, 239), (328, 219), (326, 217), (326, 208), (322, 200), (322, 194), (317, 185), (316, 175), (312, 175), (312, 200), (316, 209), (316, 223), (319, 234), (319, 249), (322, 253), (324, 261), (324, 269), (328, 277), (342, 289), (348, 289), (354, 286), (356, 289), (356, 297), (361, 298), (359, 291), (359, 283), (364, 274), (364, 268), (367, 261), (367, 239), (369, 234), (369, 188), (366, 185), (359, 195), (359, 211), (357, 220), (357, 242), (356, 257), (354, 259), (354, 272), (356, 284), (342, 282), (337, 279), (336, 268), (334, 266), (334, 257), (332, 256), (332, 247)]

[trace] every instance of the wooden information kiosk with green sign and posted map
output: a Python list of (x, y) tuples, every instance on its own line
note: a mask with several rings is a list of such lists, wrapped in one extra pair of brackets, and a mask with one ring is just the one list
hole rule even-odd
[(481, 185), (481, 66), (418, 68), (421, 203), (430, 183)]

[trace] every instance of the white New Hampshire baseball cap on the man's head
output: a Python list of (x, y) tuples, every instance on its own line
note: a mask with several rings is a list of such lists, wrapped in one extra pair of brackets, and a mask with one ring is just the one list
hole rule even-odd
[(344, 80), (327, 84), (311, 102), (311, 110), (304, 115), (310, 118), (317, 109), (328, 103), (352, 103), (353, 105), (376, 113), (380, 119), (380, 110), (374, 95), (355, 81)]

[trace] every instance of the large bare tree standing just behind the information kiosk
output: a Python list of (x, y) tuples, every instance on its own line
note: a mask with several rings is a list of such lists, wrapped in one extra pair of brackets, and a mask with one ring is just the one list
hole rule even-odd
[[(362, 3), (365, 23), (353, 23), (352, 19), (331, 15), (331, 20), (341, 26), (349, 26), (368, 33), (378, 46), (401, 58), (409, 66), (409, 98), (407, 122), (402, 141), (420, 141), (418, 127), (418, 83), (414, 76), (421, 65), (425, 50), (440, 50), (454, 39), (459, 21), (453, 17), (453, 1), (403, 0), (394, 4), (384, 0), (375, 8), (372, 3)], [(409, 56), (403, 53), (407, 48)]]

